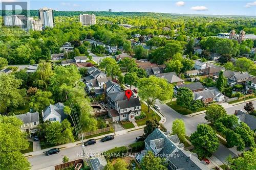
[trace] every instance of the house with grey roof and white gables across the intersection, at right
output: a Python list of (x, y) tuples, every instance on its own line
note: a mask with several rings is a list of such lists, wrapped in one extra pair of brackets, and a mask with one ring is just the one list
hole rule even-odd
[(205, 104), (224, 101), (224, 95), (217, 88), (194, 92), (193, 95), (194, 100), (201, 100)]

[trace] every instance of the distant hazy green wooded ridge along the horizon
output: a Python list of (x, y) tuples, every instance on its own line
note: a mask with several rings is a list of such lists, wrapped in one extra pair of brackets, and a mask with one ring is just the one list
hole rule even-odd
[[(24, 15), (28, 12), (30, 16), (38, 16), (37, 10), (0, 10), (2, 16), (12, 15), (12, 13)], [(75, 16), (79, 14), (95, 14), (97, 16), (150, 16), (150, 17), (174, 17), (174, 16), (216, 16), (216, 17), (254, 17), (254, 16), (228, 16), (228, 15), (196, 15), (196, 14), (170, 14), (155, 12), (108, 12), (108, 11), (53, 11), (54, 16)]]

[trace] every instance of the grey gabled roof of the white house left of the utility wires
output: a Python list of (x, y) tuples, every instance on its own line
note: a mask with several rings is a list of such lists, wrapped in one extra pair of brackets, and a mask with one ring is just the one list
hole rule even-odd
[(55, 114), (56, 116), (61, 117), (61, 120), (67, 117), (67, 115), (64, 113), (64, 105), (60, 102), (56, 103), (55, 105), (50, 104), (50, 106), (44, 110), (44, 117), (42, 117), (42, 120), (45, 120), (50, 114)]

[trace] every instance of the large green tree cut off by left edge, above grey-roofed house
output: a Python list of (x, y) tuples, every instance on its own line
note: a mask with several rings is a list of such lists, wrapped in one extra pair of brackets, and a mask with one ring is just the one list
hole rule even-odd
[(15, 79), (13, 75), (0, 74), (0, 107), (4, 113), (7, 113), (10, 107), (15, 108), (23, 104), (26, 89), (20, 89), (21, 85), (22, 80)]

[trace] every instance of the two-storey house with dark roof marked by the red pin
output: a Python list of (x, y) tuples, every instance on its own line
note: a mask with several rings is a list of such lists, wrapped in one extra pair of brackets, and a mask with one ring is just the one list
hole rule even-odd
[[(118, 117), (115, 117), (115, 119), (119, 121), (135, 120), (135, 117), (139, 116), (141, 112), (141, 104), (139, 98), (130, 98), (130, 100), (128, 100), (125, 95), (122, 96), (123, 100), (116, 102), (115, 110), (117, 111), (116, 113), (118, 113)], [(109, 116), (113, 118), (113, 115), (110, 112)]]

